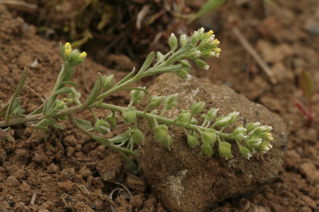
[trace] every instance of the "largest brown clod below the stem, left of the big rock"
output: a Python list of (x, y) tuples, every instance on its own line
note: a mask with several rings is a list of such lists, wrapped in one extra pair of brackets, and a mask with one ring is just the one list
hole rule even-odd
[(122, 169), (123, 162), (124, 158), (120, 154), (110, 154), (98, 163), (96, 170), (102, 180), (114, 182)]

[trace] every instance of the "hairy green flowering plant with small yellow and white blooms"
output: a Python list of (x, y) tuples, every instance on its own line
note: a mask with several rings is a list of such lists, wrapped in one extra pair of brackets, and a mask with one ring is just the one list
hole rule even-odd
[[(119, 151), (136, 169), (138, 169), (138, 165), (131, 161), (127, 157), (127, 154), (137, 160), (136, 149), (134, 149), (134, 147), (135, 144), (139, 145), (143, 142), (144, 136), (138, 129), (137, 117), (142, 117), (148, 121), (149, 127), (154, 128), (155, 140), (160, 142), (168, 150), (171, 150), (173, 139), (169, 135), (167, 126), (175, 125), (181, 127), (186, 133), (187, 142), (192, 148), (199, 145), (198, 140), (200, 137), (201, 151), (208, 157), (212, 155), (211, 148), (214, 146), (216, 140), (219, 145), (219, 154), (226, 160), (233, 157), (231, 145), (226, 142), (225, 139), (235, 140), (241, 154), (247, 159), (255, 152), (264, 154), (268, 151), (272, 147), (269, 142), (273, 140), (270, 133), (272, 128), (270, 126), (260, 126), (260, 123), (257, 122), (250, 123), (246, 127), (238, 126), (229, 134), (223, 132), (227, 126), (235, 123), (239, 112), (235, 111), (226, 116), (218, 117), (217, 112), (219, 108), (212, 108), (208, 113), (202, 115), (203, 123), (197, 125), (198, 121), (194, 116), (202, 112), (204, 102), (195, 102), (189, 111), (183, 111), (175, 119), (167, 119), (164, 117), (165, 112), (177, 105), (177, 93), (168, 97), (151, 96), (144, 111), (139, 111), (133, 106), (138, 104), (145, 94), (147, 94), (147, 90), (145, 87), (126, 87), (130, 83), (145, 76), (167, 72), (176, 73), (180, 78), (189, 80), (191, 78), (191, 65), (189, 60), (193, 60), (198, 67), (207, 70), (209, 69), (209, 65), (201, 58), (218, 58), (221, 51), (220, 48), (218, 48), (219, 41), (215, 39), (213, 31), (204, 32), (204, 28), (194, 31), (190, 38), (186, 35), (181, 35), (179, 38), (180, 48), (178, 48), (178, 39), (173, 33), (168, 39), (168, 44), (171, 50), (165, 55), (158, 51), (154, 65), (152, 65), (152, 63), (155, 58), (155, 53), (151, 52), (137, 73), (134, 67), (132, 72), (117, 83), (113, 79), (113, 74), (110, 76), (102, 76), (98, 73), (98, 78), (88, 98), (85, 102), (80, 102), (81, 94), (76, 90), (78, 85), (70, 81), (70, 79), (74, 73), (75, 66), (83, 62), (86, 53), (72, 49), (70, 43), (66, 43), (65, 45), (60, 43), (61, 56), (64, 63), (62, 64), (61, 71), (48, 99), (32, 113), (28, 115), (23, 114), (25, 110), (21, 109), (21, 105), (24, 101), (24, 97), (18, 97), (18, 95), (26, 81), (28, 69), (25, 67), (21, 81), (10, 103), (1, 109), (1, 117), (4, 118), (4, 120), (0, 122), (0, 127), (24, 123), (29, 128), (45, 132), (49, 126), (63, 129), (63, 127), (56, 123), (57, 120), (69, 119), (75, 127), (90, 138), (99, 141), (106, 147)], [(70, 87), (65, 87), (65, 85), (70, 85)], [(131, 99), (127, 107), (103, 102), (105, 97), (120, 90), (131, 90)], [(69, 94), (69, 97), (58, 100), (57, 97), (61, 94)], [(164, 108), (159, 114), (156, 108), (161, 104), (164, 104)], [(111, 114), (107, 117), (100, 118), (94, 112), (94, 108), (108, 109), (111, 111)], [(91, 111), (95, 120), (93, 125), (87, 120), (74, 117), (74, 113), (83, 110)], [(111, 128), (116, 127), (119, 121), (117, 113), (121, 113), (123, 122), (128, 126), (128, 130), (125, 133), (107, 139), (101, 134), (107, 134)], [(219, 128), (219, 130), (216, 128)], [(8, 129), (9, 128), (1, 130), (1, 139), (3, 141), (4, 139), (8, 139), (6, 135)], [(127, 144), (127, 146), (123, 147), (125, 144)]]

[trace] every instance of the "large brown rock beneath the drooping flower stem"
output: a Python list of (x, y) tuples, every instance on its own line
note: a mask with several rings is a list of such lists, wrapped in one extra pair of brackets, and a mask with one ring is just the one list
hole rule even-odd
[[(203, 83), (195, 77), (184, 81), (170, 73), (156, 78), (148, 91), (151, 95), (166, 96), (179, 93), (179, 105), (165, 113), (168, 118), (175, 118), (189, 109), (194, 101), (204, 101), (204, 113), (213, 107), (220, 108), (219, 115), (239, 111), (241, 114), (234, 127), (257, 121), (273, 127), (273, 148), (269, 152), (254, 154), (247, 160), (239, 153), (234, 140), (229, 140), (234, 158), (226, 161), (219, 156), (216, 144), (211, 158), (202, 155), (200, 146), (190, 148), (186, 135), (175, 126), (169, 126), (174, 142), (172, 151), (168, 151), (154, 140), (147, 122), (141, 121), (145, 140), (139, 147), (139, 164), (146, 181), (169, 211), (203, 211), (215, 202), (270, 182), (278, 174), (286, 150), (286, 125), (264, 106), (249, 101), (227, 86)], [(142, 103), (145, 105), (146, 102)], [(201, 120), (200, 115), (196, 118)], [(227, 127), (224, 132), (230, 133), (234, 127)]]

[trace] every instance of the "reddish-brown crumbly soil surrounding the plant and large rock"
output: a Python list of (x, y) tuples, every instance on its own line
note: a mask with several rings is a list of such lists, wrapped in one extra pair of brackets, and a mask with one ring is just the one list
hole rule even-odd
[[(201, 1), (194, 2), (187, 4), (198, 9)], [(319, 5), (317, 1), (276, 3), (279, 10), (263, 1), (227, 1), (189, 26), (189, 29), (196, 29), (198, 25), (213, 29), (221, 40), (222, 49), (218, 59), (209, 61), (209, 71), (194, 66), (193, 74), (204, 82), (228, 85), (248, 99), (263, 104), (277, 113), (288, 128), (286, 158), (276, 180), (252, 193), (216, 203), (210, 211), (318, 211), (319, 36), (316, 26)], [(27, 97), (23, 108), (30, 113), (42, 103), (41, 98), (48, 97), (61, 68), (62, 59), (56, 53), (60, 39), (48, 41), (38, 37), (36, 27), (30, 24), (39, 23), (24, 23), (18, 12), (12, 12), (11, 8), (12, 14), (9, 13), (4, 4), (0, 11), (0, 104), (2, 107), (10, 99), (27, 65), (30, 73), (26, 85), (29, 87), (24, 88), (21, 95)], [(238, 42), (228, 24), (229, 19), (237, 20), (244, 36), (274, 71), (278, 84), (271, 84)], [(90, 49), (88, 44), (83, 48), (87, 48), (82, 49), (87, 52), (97, 49), (96, 46)], [(140, 52), (145, 56), (144, 51)], [(38, 64), (34, 65), (36, 60)], [(83, 64), (73, 77), (83, 99), (93, 86), (97, 72), (107, 75), (116, 72), (117, 79), (125, 74), (90, 59)], [(298, 87), (298, 76), (303, 70), (310, 72), (316, 92), (312, 99), (316, 116), (310, 126), (294, 107), (296, 102), (307, 104)], [(154, 80), (156, 78), (148, 78), (143, 84), (151, 85)], [(128, 104), (129, 100), (128, 92), (119, 92), (107, 99), (118, 105)], [(100, 117), (108, 113), (98, 111)], [(93, 121), (87, 112), (77, 117)], [(115, 211), (165, 211), (143, 176), (133, 177), (118, 154), (105, 150), (68, 122), (62, 124), (65, 130), (50, 129), (47, 142), (38, 131), (25, 126), (12, 127), (11, 141), (1, 144), (1, 210), (112, 211), (114, 206)], [(108, 136), (124, 130), (121, 123)], [(112, 160), (107, 161), (108, 158)], [(111, 164), (114, 158), (118, 162)], [(100, 161), (109, 162), (108, 167), (114, 174), (112, 182), (102, 180), (97, 170)], [(126, 186), (131, 195), (126, 191), (118, 194), (116, 190), (110, 200), (108, 195), (115, 188), (123, 188), (116, 183)]]

